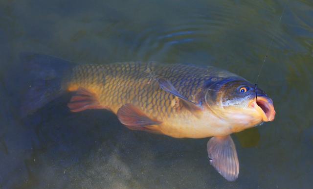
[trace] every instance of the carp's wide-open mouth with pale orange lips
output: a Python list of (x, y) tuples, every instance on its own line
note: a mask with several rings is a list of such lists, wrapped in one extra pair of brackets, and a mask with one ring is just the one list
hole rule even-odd
[(249, 103), (250, 107), (255, 108), (263, 118), (263, 121), (273, 121), (275, 118), (275, 109), (273, 101), (270, 98), (258, 96)]

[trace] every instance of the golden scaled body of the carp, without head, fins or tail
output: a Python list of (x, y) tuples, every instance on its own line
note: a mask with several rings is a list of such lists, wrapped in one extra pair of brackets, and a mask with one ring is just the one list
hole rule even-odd
[(181, 100), (162, 90), (157, 79), (170, 80), (180, 94), (198, 102), (197, 97), (205, 81), (215, 82), (217, 78), (230, 74), (227, 71), (216, 71), (213, 67), (185, 65), (135, 62), (86, 64), (73, 68), (63, 87), (68, 91), (77, 91), (80, 88), (88, 90), (95, 95), (101, 107), (115, 114), (123, 105), (132, 104), (147, 117), (160, 122), (141, 128), (128, 126), (130, 129), (161, 133), (175, 138), (204, 138), (225, 132), (225, 128), (216, 128), (215, 124), (221, 120), (208, 111), (195, 115), (182, 108)]

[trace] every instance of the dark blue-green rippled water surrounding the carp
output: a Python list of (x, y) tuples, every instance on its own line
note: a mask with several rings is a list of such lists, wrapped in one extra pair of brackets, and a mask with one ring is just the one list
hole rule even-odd
[[(0, 0), (0, 188), (309, 189), (313, 184), (313, 1)], [(73, 62), (213, 65), (273, 99), (274, 122), (233, 135), (236, 182), (209, 165), (208, 139), (125, 128), (105, 110), (70, 113), (62, 96), (21, 119), (18, 55)], [(12, 70), (13, 68), (13, 70)]]

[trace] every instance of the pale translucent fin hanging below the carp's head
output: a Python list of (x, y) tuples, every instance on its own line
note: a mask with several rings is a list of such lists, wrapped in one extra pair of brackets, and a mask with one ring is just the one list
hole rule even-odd
[(239, 174), (236, 146), (229, 135), (213, 137), (207, 142), (210, 163), (227, 180), (235, 181)]

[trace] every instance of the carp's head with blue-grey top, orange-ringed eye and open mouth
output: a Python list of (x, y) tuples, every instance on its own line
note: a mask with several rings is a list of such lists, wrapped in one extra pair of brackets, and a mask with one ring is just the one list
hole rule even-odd
[(234, 132), (275, 118), (272, 99), (246, 80), (222, 79), (211, 84), (205, 101), (209, 109), (235, 127)]

